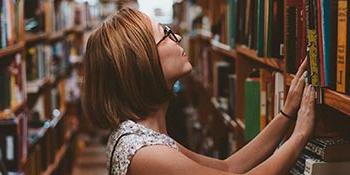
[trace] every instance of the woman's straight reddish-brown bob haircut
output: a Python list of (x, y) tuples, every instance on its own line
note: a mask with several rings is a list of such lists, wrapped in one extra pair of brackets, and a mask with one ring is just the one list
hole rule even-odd
[(82, 105), (101, 128), (139, 120), (172, 97), (159, 60), (150, 19), (125, 8), (89, 36)]

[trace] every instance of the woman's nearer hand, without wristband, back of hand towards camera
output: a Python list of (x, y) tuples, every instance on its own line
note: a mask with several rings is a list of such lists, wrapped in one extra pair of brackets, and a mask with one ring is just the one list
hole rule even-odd
[(298, 111), (298, 119), (293, 135), (301, 135), (309, 138), (315, 125), (315, 89), (311, 85), (305, 88), (301, 107)]

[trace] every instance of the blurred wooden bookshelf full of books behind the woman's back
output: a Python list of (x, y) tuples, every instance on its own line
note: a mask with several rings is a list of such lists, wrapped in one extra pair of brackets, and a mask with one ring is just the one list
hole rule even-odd
[[(79, 97), (71, 97), (76, 89), (70, 83), (80, 83), (72, 77), (81, 71), (75, 61), (82, 58), (90, 30), (107, 14), (106, 4), (3, 2), (10, 7), (4, 17), (13, 20), (0, 22), (0, 142), (16, 140), (14, 160), (5, 165), (28, 175), (70, 174), (80, 115), (72, 109)], [(0, 148), (5, 155), (6, 147)]]

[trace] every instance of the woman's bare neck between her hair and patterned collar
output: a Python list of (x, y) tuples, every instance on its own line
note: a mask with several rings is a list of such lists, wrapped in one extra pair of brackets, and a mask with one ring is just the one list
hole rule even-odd
[(168, 109), (169, 102), (162, 104), (157, 111), (146, 116), (145, 119), (138, 121), (137, 123), (157, 131), (162, 134), (167, 134), (165, 115)]

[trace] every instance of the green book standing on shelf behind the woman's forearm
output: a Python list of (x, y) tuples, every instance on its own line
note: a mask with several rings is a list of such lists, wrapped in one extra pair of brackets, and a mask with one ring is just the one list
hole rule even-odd
[(260, 82), (248, 78), (244, 83), (244, 119), (246, 141), (253, 139), (260, 132)]

